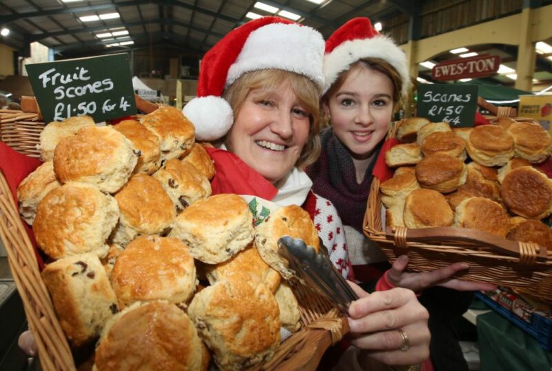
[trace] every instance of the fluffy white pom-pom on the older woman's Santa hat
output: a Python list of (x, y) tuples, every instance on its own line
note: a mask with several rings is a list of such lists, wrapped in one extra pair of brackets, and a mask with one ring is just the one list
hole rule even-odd
[(194, 98), (184, 106), (182, 113), (194, 124), (198, 141), (221, 139), (234, 122), (230, 104), (221, 97)]

